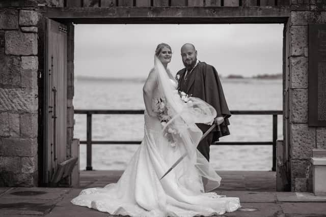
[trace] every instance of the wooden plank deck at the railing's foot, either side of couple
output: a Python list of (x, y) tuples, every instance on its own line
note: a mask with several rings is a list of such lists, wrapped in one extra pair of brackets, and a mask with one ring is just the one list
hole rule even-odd
[[(123, 171), (80, 171), (80, 188), (104, 187), (118, 181)], [(276, 192), (276, 172), (218, 171), (222, 177), (219, 191)]]

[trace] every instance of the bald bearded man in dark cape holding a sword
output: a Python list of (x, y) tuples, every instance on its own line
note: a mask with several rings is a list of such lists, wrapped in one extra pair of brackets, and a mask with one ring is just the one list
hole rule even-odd
[[(213, 66), (197, 59), (197, 50), (193, 44), (184, 44), (181, 47), (181, 57), (184, 69), (176, 74), (178, 88), (192, 97), (197, 97), (216, 110), (214, 119), (216, 127), (197, 146), (198, 150), (209, 161), (209, 145), (219, 141), (222, 136), (229, 135), (228, 125), (231, 113), (226, 103), (218, 72)], [(197, 126), (205, 133), (211, 126), (198, 123)]]

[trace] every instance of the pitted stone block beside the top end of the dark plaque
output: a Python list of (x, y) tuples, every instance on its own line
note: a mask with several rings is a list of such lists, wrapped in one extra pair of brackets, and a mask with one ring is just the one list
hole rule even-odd
[(308, 26), (290, 27), (290, 55), (304, 55), (304, 47), (308, 46)]

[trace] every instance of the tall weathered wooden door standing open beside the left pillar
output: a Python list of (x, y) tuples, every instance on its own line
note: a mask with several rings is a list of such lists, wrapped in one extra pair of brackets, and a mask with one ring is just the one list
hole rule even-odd
[(49, 183), (66, 160), (67, 142), (67, 26), (47, 19), (44, 76), (43, 181)]

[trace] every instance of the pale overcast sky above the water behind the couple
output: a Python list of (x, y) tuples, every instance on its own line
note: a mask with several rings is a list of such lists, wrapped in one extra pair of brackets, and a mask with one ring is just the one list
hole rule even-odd
[(161, 42), (174, 74), (184, 43), (222, 76), (282, 73), (283, 24), (75, 24), (75, 75), (146, 78)]

